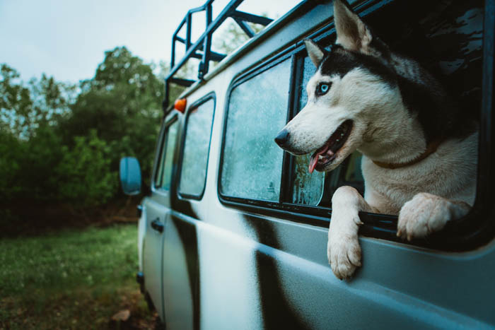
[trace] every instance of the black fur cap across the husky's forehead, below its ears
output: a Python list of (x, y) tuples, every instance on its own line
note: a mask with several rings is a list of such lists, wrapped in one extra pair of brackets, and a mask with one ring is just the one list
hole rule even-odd
[(323, 59), (319, 69), (325, 76), (337, 74), (343, 77), (349, 71), (356, 68), (366, 69), (380, 76), (390, 86), (397, 85), (395, 72), (388, 68), (388, 66), (385, 66), (385, 64), (381, 63), (375, 57), (358, 52), (350, 52), (340, 45), (332, 46), (332, 52), (328, 53), (325, 59)]

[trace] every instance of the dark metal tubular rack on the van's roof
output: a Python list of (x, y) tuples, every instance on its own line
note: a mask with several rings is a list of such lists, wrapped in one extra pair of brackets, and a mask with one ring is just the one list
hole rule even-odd
[[(260, 24), (264, 26), (272, 22), (272, 19), (270, 18), (252, 15), (250, 13), (245, 13), (243, 11), (238, 11), (237, 7), (243, 2), (243, 0), (231, 0), (227, 4), (227, 6), (223, 8), (223, 11), (221, 11), (219, 16), (214, 21), (212, 21), (211, 4), (213, 3), (213, 1), (214, 0), (206, 0), (206, 3), (203, 6), (192, 8), (189, 11), (187, 11), (187, 14), (182, 19), (182, 21), (180, 22), (179, 26), (177, 27), (177, 29), (173, 34), (172, 55), (170, 57), (170, 72), (165, 77), (165, 100), (163, 100), (163, 104), (162, 104), (163, 112), (165, 113), (167, 112), (167, 108), (169, 105), (169, 97), (170, 97), (169, 84), (175, 83), (180, 86), (189, 87), (196, 82), (190, 79), (174, 77), (177, 71), (179, 71), (179, 69), (182, 68), (182, 66), (187, 62), (188, 59), (191, 58), (201, 59), (198, 68), (198, 80), (202, 80), (203, 77), (206, 75), (206, 73), (208, 73), (209, 61), (221, 61), (227, 56), (226, 54), (219, 54), (217, 52), (211, 51), (211, 37), (213, 33), (216, 31), (216, 29), (219, 28), (221, 23), (223, 23), (224, 20), (226, 20), (229, 17), (233, 18), (233, 20), (235, 20), (235, 23), (239, 25), (239, 27), (244, 31), (246, 35), (248, 35), (248, 37), (253, 37), (255, 35), (255, 32), (252, 30), (252, 28), (250, 28), (247, 22)], [(200, 11), (206, 12), (206, 30), (201, 35), (201, 37), (199, 37), (198, 40), (194, 42), (194, 44), (192, 44), (191, 41), (192, 14), (198, 13)], [(185, 39), (177, 36), (177, 34), (184, 25), (186, 25)], [(175, 42), (177, 41), (185, 45), (186, 53), (184, 57), (182, 57), (182, 59), (180, 59), (180, 61), (178, 61), (177, 64), (175, 64)], [(198, 52), (202, 52), (202, 53), (200, 54)]]

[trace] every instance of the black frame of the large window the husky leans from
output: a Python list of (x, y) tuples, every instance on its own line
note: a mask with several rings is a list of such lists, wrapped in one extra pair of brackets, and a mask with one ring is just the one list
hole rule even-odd
[[(359, 4), (355, 8), (361, 17), (368, 16), (380, 10), (386, 4), (395, 0), (368, 0)], [(483, 244), (486, 244), (494, 238), (495, 222), (490, 221), (494, 218), (495, 210), (490, 207), (490, 188), (495, 186), (495, 174), (491, 174), (490, 165), (495, 163), (495, 153), (491, 151), (492, 132), (495, 131), (495, 121), (491, 119), (494, 113), (494, 43), (495, 43), (495, 0), (484, 1), (484, 26), (482, 42), (482, 105), (479, 110), (479, 155), (477, 169), (477, 191), (474, 205), (470, 213), (457, 220), (451, 220), (445, 229), (441, 232), (434, 233), (428, 240), (412, 240), (404, 242), (396, 236), (397, 216), (390, 216), (380, 213), (360, 212), (359, 217), (363, 221), (359, 234), (367, 237), (381, 238), (392, 242), (400, 242), (408, 245), (427, 247), (436, 250), (462, 252), (469, 251)], [(329, 44), (330, 40), (335, 37), (333, 21), (325, 27), (320, 28), (308, 35), (310, 39), (319, 44)], [(301, 56), (302, 54), (302, 56)], [(301, 61), (305, 57), (305, 47), (303, 40), (298, 40), (293, 45), (286, 47), (279, 54), (262, 61), (261, 64), (248, 69), (245, 73), (240, 73), (233, 78), (231, 85), (226, 92), (226, 103), (224, 107), (225, 115), (223, 119), (223, 131), (221, 139), (221, 154), (219, 160), (219, 176), (217, 182), (217, 195), (222, 204), (240, 208), (241, 210), (254, 213), (262, 213), (266, 216), (286, 218), (298, 223), (317, 225), (328, 228), (332, 209), (330, 206), (308, 206), (303, 204), (292, 204), (286, 202), (289, 200), (291, 171), (293, 168), (293, 156), (284, 153), (284, 160), (281, 168), (281, 188), (279, 202), (262, 201), (258, 199), (245, 199), (240, 197), (225, 196), (221, 193), (221, 175), (223, 169), (223, 153), (226, 140), (226, 126), (228, 119), (228, 108), (231, 102), (231, 93), (240, 83), (243, 83), (253, 76), (270, 69), (278, 64), (281, 58), (291, 57), (291, 80), (289, 86), (289, 102), (287, 109), (287, 122), (297, 113), (299, 93), (296, 90), (296, 84), (301, 80)], [(299, 63), (299, 64), (298, 64)], [(299, 68), (298, 68), (299, 65)], [(492, 161), (493, 159), (493, 161)], [(325, 174), (324, 191), (322, 198), (328, 198), (329, 191), (332, 187), (327, 184), (327, 179), (331, 175)], [(331, 196), (330, 196), (331, 198)], [(330, 202), (330, 199), (329, 199)], [(319, 203), (320, 204), (320, 203)], [(330, 204), (329, 204), (330, 205)]]

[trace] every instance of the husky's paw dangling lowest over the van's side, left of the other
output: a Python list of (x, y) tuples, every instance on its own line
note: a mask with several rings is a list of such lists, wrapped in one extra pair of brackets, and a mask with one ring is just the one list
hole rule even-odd
[(327, 257), (337, 278), (350, 278), (361, 266), (361, 247), (357, 235), (329, 235)]

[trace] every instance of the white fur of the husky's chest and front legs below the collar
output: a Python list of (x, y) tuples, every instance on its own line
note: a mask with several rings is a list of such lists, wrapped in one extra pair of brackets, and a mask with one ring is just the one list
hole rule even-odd
[(477, 141), (478, 134), (446, 141), (421, 162), (393, 170), (364, 155), (364, 199), (351, 187), (340, 187), (332, 198), (327, 256), (335, 276), (349, 278), (361, 266), (359, 211), (398, 214), (397, 236), (407, 240), (426, 237), (465, 216), (476, 190)]

